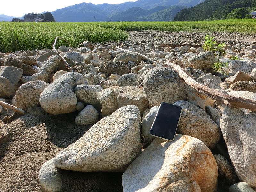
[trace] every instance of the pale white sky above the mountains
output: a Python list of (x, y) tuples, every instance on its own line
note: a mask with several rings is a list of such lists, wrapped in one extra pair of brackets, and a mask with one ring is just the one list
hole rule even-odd
[(127, 1), (136, 1), (136, 0), (73, 0), (73, 1), (58, 1), (58, 0), (42, 0), (42, 1), (2, 1), (0, 15), (8, 15), (14, 17), (22, 17), (27, 13), (41, 13), (44, 11), (55, 11), (56, 9), (61, 9), (68, 7), (74, 4), (79, 3), (93, 3), (93, 4), (119, 4)]

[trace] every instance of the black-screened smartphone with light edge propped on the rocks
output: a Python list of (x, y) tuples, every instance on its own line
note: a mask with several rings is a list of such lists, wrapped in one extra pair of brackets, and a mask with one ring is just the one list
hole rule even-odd
[(164, 140), (174, 140), (178, 127), (181, 107), (170, 103), (161, 103), (155, 120), (150, 129), (150, 135)]

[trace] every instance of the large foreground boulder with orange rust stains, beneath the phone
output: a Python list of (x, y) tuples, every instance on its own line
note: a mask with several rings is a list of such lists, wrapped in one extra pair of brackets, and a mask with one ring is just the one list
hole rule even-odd
[(217, 164), (209, 148), (196, 138), (176, 135), (171, 142), (153, 140), (124, 172), (122, 184), (124, 192), (214, 192), (217, 176)]

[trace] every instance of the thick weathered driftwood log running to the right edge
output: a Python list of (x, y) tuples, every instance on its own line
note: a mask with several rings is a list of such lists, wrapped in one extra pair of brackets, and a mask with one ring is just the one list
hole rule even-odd
[(249, 109), (251, 111), (256, 111), (256, 101), (250, 100), (250, 99), (244, 99), (241, 97), (226, 95), (218, 91), (215, 91), (213, 89), (210, 89), (209, 87), (206, 87), (196, 82), (194, 79), (188, 76), (188, 74), (184, 71), (184, 69), (182, 69), (180, 66), (174, 63), (171, 63), (169, 61), (166, 64), (166, 66), (170, 68), (174, 68), (178, 72), (180, 78), (184, 80), (189, 86), (196, 89), (196, 91), (198, 91), (199, 93), (204, 94), (207, 97), (212, 98), (213, 100), (224, 103), (227, 106), (240, 107), (240, 108)]

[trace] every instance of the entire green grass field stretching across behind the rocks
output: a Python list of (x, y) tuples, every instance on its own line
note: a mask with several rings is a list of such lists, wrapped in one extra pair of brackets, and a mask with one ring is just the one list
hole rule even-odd
[[(256, 19), (229, 19), (198, 22), (96, 22), (96, 23), (12, 23), (0, 22), (0, 52), (52, 49), (56, 36), (73, 47), (85, 40), (93, 43), (125, 41), (125, 31), (219, 31), (256, 33)], [(68, 44), (59, 40), (56, 47)]]

